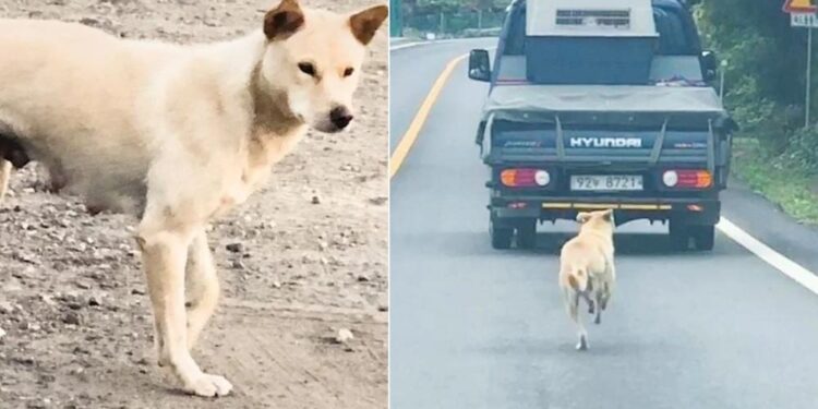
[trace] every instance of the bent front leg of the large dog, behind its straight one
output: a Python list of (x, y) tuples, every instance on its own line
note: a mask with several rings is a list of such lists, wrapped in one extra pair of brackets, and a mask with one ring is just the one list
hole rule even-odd
[(193, 238), (188, 250), (184, 282), (188, 294), (188, 349), (193, 349), (219, 299), (218, 276), (204, 230)]

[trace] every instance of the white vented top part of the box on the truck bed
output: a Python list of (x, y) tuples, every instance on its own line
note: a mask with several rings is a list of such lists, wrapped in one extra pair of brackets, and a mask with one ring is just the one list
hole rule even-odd
[(526, 35), (659, 36), (651, 0), (526, 0)]

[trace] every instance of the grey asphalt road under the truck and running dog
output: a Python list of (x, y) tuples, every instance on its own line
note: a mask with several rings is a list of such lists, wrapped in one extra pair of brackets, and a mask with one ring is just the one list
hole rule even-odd
[[(445, 63), (492, 45), (392, 52), (393, 148)], [(392, 180), (392, 409), (818, 408), (818, 296), (721, 233), (712, 253), (679, 254), (664, 227), (618, 229), (616, 293), (575, 351), (549, 243), (576, 227), (541, 226), (534, 252), (490, 246), (473, 145), (486, 91), (460, 63)], [(818, 242), (763, 201), (727, 196), (748, 231)]]

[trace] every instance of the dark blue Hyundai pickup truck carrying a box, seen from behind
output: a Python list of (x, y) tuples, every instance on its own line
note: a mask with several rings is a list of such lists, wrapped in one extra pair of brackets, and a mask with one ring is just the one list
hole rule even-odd
[(737, 125), (685, 2), (515, 0), (491, 65), (469, 55), (490, 83), (477, 144), (493, 248), (533, 248), (540, 221), (601, 208), (713, 248)]

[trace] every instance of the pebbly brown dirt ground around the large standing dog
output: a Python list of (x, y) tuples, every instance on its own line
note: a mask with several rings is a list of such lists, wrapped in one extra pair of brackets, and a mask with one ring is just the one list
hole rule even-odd
[[(246, 33), (275, 3), (0, 0), (0, 15), (189, 43)], [(15, 173), (0, 204), (0, 408), (386, 408), (386, 27), (371, 50), (353, 128), (311, 133), (213, 225), (224, 298), (194, 357), (233, 383), (229, 397), (169, 389), (153, 363), (136, 220), (44, 193), (33, 166)], [(337, 344), (342, 328), (354, 338)]]

